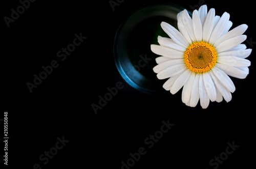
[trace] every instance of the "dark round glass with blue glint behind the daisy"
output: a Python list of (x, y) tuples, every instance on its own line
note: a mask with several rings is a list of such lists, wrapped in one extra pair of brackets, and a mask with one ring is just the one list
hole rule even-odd
[(157, 37), (167, 35), (162, 21), (177, 27), (177, 14), (182, 7), (160, 4), (137, 10), (119, 27), (114, 42), (114, 57), (119, 73), (129, 85), (146, 93), (156, 94), (162, 90), (153, 67), (158, 57), (151, 51), (151, 44), (158, 44)]

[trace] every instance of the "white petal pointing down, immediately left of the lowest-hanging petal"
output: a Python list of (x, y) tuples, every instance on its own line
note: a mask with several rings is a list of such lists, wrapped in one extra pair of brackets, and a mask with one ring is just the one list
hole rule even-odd
[(191, 107), (196, 107), (199, 101), (199, 78), (200, 78), (200, 74), (196, 74), (196, 77), (193, 82), (192, 90), (191, 90), (190, 103), (188, 104)]

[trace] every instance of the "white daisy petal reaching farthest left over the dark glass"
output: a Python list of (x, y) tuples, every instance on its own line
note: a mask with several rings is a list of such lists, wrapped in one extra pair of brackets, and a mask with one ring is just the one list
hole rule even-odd
[(163, 55), (170, 59), (181, 59), (184, 55), (184, 52), (160, 45), (151, 45), (151, 50), (156, 54)]

